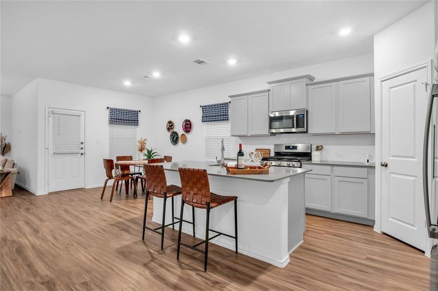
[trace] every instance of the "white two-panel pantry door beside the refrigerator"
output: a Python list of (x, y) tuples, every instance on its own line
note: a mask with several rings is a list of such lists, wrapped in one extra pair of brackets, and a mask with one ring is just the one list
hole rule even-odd
[(426, 248), (422, 143), (427, 69), (382, 82), (382, 231)]

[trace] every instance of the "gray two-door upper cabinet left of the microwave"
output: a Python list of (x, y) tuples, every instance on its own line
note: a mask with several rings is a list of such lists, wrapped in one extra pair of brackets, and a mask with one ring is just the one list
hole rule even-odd
[(229, 96), (232, 136), (269, 135), (269, 89)]

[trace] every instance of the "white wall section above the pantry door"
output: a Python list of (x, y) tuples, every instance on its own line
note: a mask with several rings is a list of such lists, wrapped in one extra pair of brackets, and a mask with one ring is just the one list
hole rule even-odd
[[(435, 4), (430, 1), (374, 35), (375, 79), (433, 58)], [(376, 94), (378, 94), (376, 90)]]

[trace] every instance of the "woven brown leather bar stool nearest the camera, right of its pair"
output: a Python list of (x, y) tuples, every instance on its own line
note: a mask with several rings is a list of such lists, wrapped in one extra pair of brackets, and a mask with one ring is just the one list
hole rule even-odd
[[(179, 225), (178, 232), (178, 249), (176, 252), (176, 259), (179, 259), (179, 249), (181, 244), (191, 248), (195, 251), (204, 254), (204, 272), (207, 272), (207, 262), (209, 256), (209, 241), (220, 236), (225, 235), (236, 241), (236, 254), (237, 254), (237, 197), (236, 196), (221, 196), (210, 192), (210, 182), (207, 176), (207, 170), (205, 169), (193, 169), (193, 168), (178, 168), (179, 177), (181, 178), (182, 188), (182, 200), (181, 200), (181, 218), (184, 211), (184, 204), (191, 205), (192, 207), (202, 208), (207, 211), (206, 219), (206, 231), (205, 241), (198, 242), (195, 245), (189, 245), (181, 242), (181, 225)], [(220, 231), (216, 231), (209, 228), (210, 223), (210, 210), (221, 206), (225, 203), (234, 201), (234, 236), (231, 236)], [(209, 231), (216, 233), (216, 235), (209, 237)], [(205, 243), (204, 251), (197, 248), (197, 246)]]

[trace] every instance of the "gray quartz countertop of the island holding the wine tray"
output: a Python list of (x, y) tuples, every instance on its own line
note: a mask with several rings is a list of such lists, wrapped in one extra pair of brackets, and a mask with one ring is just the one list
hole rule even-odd
[(260, 175), (229, 175), (227, 170), (221, 166), (210, 166), (214, 162), (196, 162), (196, 161), (182, 161), (182, 162), (165, 162), (162, 163), (164, 170), (178, 171), (178, 168), (197, 168), (206, 169), (209, 176), (219, 176), (224, 178), (236, 178), (262, 182), (275, 182), (281, 179), (290, 178), (292, 176), (301, 175), (312, 171), (311, 169), (302, 168), (286, 168), (286, 167), (271, 167), (269, 174)]

